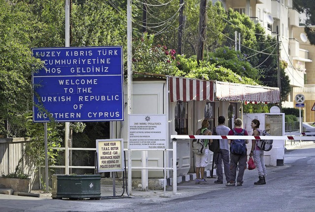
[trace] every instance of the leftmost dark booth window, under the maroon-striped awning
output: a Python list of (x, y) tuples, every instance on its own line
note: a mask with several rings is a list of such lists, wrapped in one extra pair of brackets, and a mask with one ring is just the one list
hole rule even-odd
[(178, 101), (175, 107), (175, 131), (188, 134), (188, 103)]

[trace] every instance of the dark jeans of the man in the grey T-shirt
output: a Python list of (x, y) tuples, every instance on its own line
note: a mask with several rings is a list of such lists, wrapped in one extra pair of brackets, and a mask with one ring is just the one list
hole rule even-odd
[(217, 164), (218, 181), (223, 182), (222, 160), (224, 166), (224, 175), (226, 182), (230, 182), (230, 155), (229, 151), (220, 149), (219, 153), (214, 154), (215, 163)]

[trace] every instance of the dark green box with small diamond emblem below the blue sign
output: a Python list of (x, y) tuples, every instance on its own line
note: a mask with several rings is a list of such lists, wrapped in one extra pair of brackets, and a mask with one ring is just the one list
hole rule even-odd
[(99, 200), (100, 197), (100, 175), (52, 175), (53, 199)]

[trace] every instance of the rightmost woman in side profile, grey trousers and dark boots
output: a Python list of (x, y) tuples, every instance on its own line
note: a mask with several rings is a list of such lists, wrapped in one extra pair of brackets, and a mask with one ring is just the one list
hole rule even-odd
[[(259, 129), (260, 122), (257, 119), (252, 120), (252, 135), (260, 135), (261, 130)], [(258, 181), (254, 183), (254, 185), (264, 185), (266, 184), (266, 179), (265, 176), (266, 174), (266, 165), (265, 165), (265, 160), (264, 160), (264, 151), (261, 150), (257, 146), (258, 140), (252, 140), (252, 150), (250, 153), (250, 157), (253, 157), (255, 165), (258, 170)]]

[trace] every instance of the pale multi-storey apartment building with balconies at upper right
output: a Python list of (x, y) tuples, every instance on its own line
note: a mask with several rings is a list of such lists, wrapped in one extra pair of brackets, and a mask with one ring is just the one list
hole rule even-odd
[[(213, 0), (213, 3), (218, 0)], [(227, 10), (245, 13), (255, 23), (261, 24), (266, 33), (279, 33), (280, 59), (288, 64), (285, 72), (290, 79), (291, 92), (283, 107), (295, 107), (295, 95), (305, 96), (304, 122), (315, 122), (315, 47), (311, 46), (299, 26), (299, 13), (292, 7), (292, 0), (220, 0)], [(278, 30), (278, 33), (277, 33)]]

